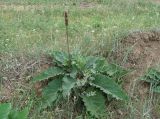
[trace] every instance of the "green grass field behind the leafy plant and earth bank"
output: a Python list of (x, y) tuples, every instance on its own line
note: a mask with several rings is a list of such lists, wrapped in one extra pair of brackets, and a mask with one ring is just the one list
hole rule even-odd
[[(65, 6), (50, 1), (51, 8), (38, 0), (35, 2), (40, 3), (38, 9), (32, 6), (31, 10), (18, 11), (14, 4), (15, 8), (0, 10), (0, 52), (39, 54), (66, 49)], [(67, 4), (72, 51), (105, 53), (128, 32), (160, 27), (160, 6), (150, 2), (109, 0), (93, 2), (89, 8), (79, 7), (79, 3)]]

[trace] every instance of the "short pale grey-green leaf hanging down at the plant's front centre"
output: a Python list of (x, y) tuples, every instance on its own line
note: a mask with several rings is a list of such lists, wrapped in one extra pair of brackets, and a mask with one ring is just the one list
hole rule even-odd
[(76, 83), (76, 79), (69, 76), (65, 76), (62, 80), (63, 96), (66, 97), (70, 95), (71, 89), (74, 87)]

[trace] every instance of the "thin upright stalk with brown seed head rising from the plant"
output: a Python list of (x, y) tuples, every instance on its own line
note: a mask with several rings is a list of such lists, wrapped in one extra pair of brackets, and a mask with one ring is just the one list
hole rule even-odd
[(67, 41), (67, 52), (68, 52), (68, 59), (69, 59), (69, 66), (71, 67), (71, 53), (69, 48), (69, 35), (68, 35), (68, 13), (64, 12), (65, 17), (65, 26), (66, 26), (66, 41)]

